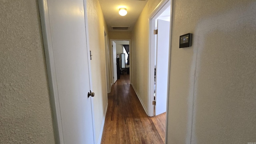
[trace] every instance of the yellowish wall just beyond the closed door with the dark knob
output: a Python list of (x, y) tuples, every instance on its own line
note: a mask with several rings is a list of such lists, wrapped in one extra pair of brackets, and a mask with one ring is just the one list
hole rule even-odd
[[(91, 72), (92, 92), (95, 92), (94, 101), (94, 124), (96, 144), (100, 136), (100, 128), (108, 103), (107, 82), (106, 82), (106, 58), (104, 43), (104, 21), (103, 13), (98, 0), (87, 0), (89, 44), (92, 51)], [(108, 31), (106, 31), (108, 34)]]

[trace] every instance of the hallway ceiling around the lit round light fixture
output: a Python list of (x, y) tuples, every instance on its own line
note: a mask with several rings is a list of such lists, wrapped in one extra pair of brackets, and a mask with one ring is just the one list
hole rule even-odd
[[(140, 13), (148, 0), (99, 0), (108, 31), (132, 31)], [(119, 8), (126, 8), (127, 15), (120, 16)], [(122, 28), (128, 26), (128, 30), (113, 30), (112, 26)]]

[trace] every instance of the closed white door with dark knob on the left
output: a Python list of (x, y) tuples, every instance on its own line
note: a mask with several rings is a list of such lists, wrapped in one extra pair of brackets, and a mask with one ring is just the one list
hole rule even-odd
[(47, 0), (64, 144), (94, 144), (83, 0)]

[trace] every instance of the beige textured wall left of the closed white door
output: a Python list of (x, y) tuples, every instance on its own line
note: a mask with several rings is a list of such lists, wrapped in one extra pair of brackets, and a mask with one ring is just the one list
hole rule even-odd
[(0, 143), (54, 144), (36, 0), (0, 0)]

